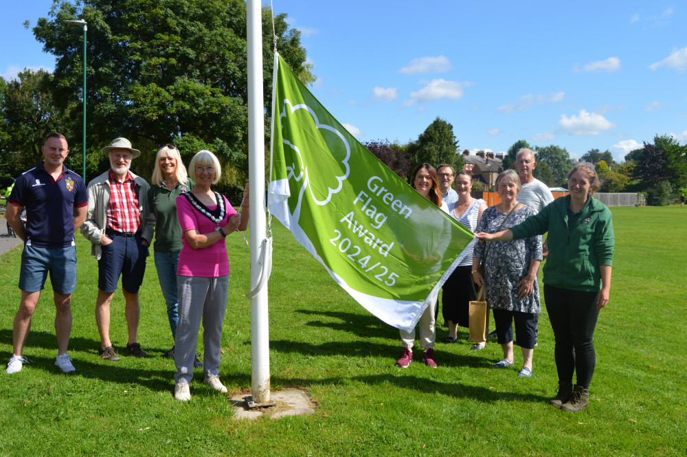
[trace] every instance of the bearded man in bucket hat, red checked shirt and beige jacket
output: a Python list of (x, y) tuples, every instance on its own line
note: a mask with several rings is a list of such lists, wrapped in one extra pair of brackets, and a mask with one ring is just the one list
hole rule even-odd
[(110, 341), (110, 302), (122, 276), (128, 342), (126, 352), (148, 357), (137, 342), (141, 306), (138, 290), (146, 271), (148, 246), (153, 239), (155, 217), (148, 208), (148, 183), (134, 175), (131, 161), (141, 151), (126, 138), (115, 138), (102, 148), (110, 169), (89, 182), (88, 214), (81, 233), (91, 242), (91, 255), (98, 260), (98, 298), (95, 322), (100, 333), (100, 356), (117, 361)]

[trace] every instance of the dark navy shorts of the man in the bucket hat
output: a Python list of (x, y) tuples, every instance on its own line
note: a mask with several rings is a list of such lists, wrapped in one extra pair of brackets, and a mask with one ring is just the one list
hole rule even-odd
[[(108, 235), (109, 236), (109, 235)], [(98, 289), (106, 293), (117, 290), (122, 274), (122, 287), (128, 293), (138, 293), (146, 273), (148, 247), (141, 244), (141, 236), (112, 235), (112, 243), (100, 245), (98, 260)]]

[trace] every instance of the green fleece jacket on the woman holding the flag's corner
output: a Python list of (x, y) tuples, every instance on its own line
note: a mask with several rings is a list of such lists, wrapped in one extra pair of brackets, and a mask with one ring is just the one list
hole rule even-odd
[(568, 227), (570, 195), (554, 200), (512, 228), (513, 238), (548, 232), (549, 254), (543, 267), (546, 285), (574, 291), (601, 290), (600, 265), (613, 265), (611, 211), (592, 197), (574, 227)]

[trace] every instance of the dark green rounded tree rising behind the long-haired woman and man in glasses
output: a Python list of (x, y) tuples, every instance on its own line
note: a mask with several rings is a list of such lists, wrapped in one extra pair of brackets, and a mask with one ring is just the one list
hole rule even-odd
[(453, 135), (453, 126), (437, 117), (418, 139), (408, 145), (412, 170), (418, 164), (427, 162), (432, 166), (438, 164), (455, 164), (458, 151), (458, 140)]

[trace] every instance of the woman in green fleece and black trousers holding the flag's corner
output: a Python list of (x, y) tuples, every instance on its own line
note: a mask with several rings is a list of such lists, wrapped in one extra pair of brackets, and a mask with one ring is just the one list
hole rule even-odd
[(589, 404), (589, 383), (596, 365), (594, 328), (599, 310), (609, 300), (615, 238), (610, 210), (593, 197), (600, 187), (594, 166), (576, 164), (567, 178), (570, 195), (554, 200), (512, 229), (478, 233), (477, 238), (508, 241), (548, 232), (542, 281), (559, 375), (559, 391), (550, 403), (574, 412)]

